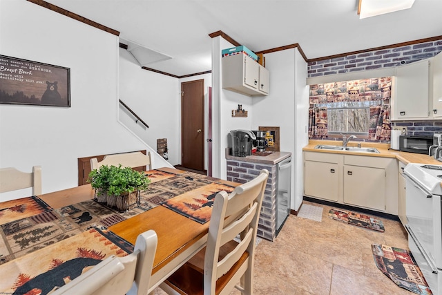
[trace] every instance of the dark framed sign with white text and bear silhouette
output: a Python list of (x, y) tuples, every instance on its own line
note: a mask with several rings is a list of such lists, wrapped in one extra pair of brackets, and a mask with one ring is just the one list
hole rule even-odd
[(0, 55), (0, 104), (70, 106), (70, 68)]

